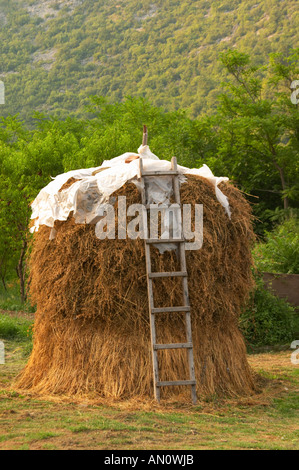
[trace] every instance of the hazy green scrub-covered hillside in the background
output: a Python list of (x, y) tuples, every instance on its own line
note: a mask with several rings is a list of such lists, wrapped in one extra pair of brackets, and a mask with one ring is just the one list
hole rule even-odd
[(227, 48), (287, 54), (297, 0), (0, 0), (3, 116), (80, 116), (89, 95), (142, 95), (191, 116), (210, 112)]

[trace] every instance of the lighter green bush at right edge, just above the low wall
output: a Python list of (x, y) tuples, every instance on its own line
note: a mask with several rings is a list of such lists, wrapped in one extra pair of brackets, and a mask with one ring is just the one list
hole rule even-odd
[(260, 271), (299, 274), (299, 219), (287, 219), (266, 232), (266, 241), (256, 245), (253, 255)]

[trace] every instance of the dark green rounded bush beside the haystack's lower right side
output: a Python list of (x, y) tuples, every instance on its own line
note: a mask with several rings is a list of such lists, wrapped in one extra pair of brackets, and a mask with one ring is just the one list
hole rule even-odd
[(264, 288), (257, 285), (250, 302), (240, 317), (240, 328), (251, 347), (291, 343), (294, 339), (295, 309)]

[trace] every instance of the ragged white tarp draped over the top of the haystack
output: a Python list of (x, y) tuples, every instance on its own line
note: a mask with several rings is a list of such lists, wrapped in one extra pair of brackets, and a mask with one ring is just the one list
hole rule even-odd
[[(170, 170), (171, 163), (160, 160), (154, 155), (147, 145), (141, 146), (138, 153), (125, 153), (111, 160), (106, 160), (101, 166), (82, 170), (73, 170), (56, 176), (45, 188), (43, 188), (33, 201), (31, 219), (34, 225), (30, 229), (35, 232), (40, 225), (54, 227), (55, 220), (67, 220), (70, 212), (73, 212), (76, 223), (93, 223), (98, 215), (102, 214), (103, 204), (109, 202), (112, 193), (121, 188), (127, 181), (140, 186), (139, 159), (130, 163), (125, 160), (131, 156), (140, 156), (143, 159), (145, 171)], [(96, 171), (99, 172), (95, 173)], [(215, 187), (215, 194), (230, 217), (230, 207), (227, 197), (218, 188), (221, 181), (228, 181), (225, 177), (213, 175), (207, 165), (201, 168), (187, 168), (178, 165), (179, 179), (186, 181), (184, 175), (198, 175), (207, 178)], [(94, 174), (93, 174), (94, 173)], [(76, 181), (69, 188), (60, 191), (60, 188), (70, 179)], [(147, 204), (169, 203), (172, 191), (172, 179), (168, 176), (149, 178), (147, 187)], [(52, 230), (50, 238), (55, 237)]]

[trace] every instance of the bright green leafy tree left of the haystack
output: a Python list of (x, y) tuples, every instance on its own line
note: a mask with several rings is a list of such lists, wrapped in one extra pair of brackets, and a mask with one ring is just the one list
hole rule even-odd
[(0, 276), (5, 287), (6, 277), (15, 270), (22, 302), (26, 300), (30, 203), (52, 176), (72, 166), (70, 161), (79, 150), (66, 123), (39, 119), (34, 131), (17, 118), (2, 119), (0, 128)]

